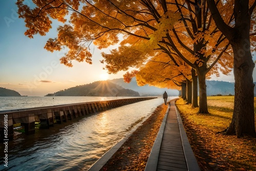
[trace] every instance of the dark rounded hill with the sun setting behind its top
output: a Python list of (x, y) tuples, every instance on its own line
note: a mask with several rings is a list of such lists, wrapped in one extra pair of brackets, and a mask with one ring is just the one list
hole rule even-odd
[(111, 81), (96, 81), (82, 86), (58, 91), (56, 93), (47, 94), (46, 96), (140, 96), (138, 92), (124, 89)]

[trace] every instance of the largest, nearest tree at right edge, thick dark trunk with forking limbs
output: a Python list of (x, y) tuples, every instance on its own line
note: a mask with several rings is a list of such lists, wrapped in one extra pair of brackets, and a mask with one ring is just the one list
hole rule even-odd
[[(251, 55), (250, 34), (255, 31), (256, 1), (212, 1), (207, 0), (218, 29), (227, 37), (233, 49), (234, 111), (226, 134), (241, 137), (248, 134), (256, 137), (254, 125), (254, 84), (252, 72), (254, 62)], [(222, 9), (232, 9), (227, 13)], [(231, 23), (223, 19), (232, 18)], [(253, 25), (251, 25), (251, 23)], [(252, 37), (255, 39), (254, 37)]]

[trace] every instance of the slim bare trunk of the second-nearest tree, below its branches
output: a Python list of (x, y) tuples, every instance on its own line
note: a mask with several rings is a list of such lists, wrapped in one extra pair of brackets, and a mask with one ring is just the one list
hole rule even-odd
[[(203, 70), (203, 69), (201, 69)], [(197, 69), (198, 82), (199, 82), (199, 111), (198, 113), (208, 114), (207, 107), (207, 94), (206, 94), (206, 83), (205, 83), (205, 72), (200, 72)]]

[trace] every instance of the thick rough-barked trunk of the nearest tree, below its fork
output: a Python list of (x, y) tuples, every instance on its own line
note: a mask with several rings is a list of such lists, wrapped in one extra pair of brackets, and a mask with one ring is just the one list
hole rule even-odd
[(252, 79), (254, 62), (248, 45), (249, 39), (244, 40), (231, 44), (234, 54), (234, 111), (226, 134), (236, 134), (237, 137), (247, 134), (256, 137)]

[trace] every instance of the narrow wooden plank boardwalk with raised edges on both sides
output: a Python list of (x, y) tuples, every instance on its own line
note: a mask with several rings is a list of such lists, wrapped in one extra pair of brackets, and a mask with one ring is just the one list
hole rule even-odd
[(200, 170), (176, 109), (175, 100), (169, 102), (145, 168), (145, 171), (156, 170)]

